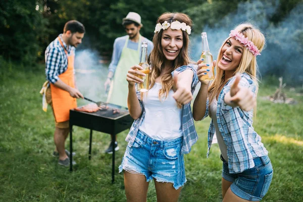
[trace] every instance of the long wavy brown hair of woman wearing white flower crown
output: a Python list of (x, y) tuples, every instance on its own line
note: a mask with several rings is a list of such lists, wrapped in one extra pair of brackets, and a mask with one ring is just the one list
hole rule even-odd
[[(179, 21), (180, 23), (184, 22), (186, 25), (190, 27), (193, 26), (191, 19), (188, 15), (184, 13), (164, 13), (162, 14), (157, 23), (164, 23), (165, 21), (172, 23), (174, 21)], [(161, 40), (162, 40), (163, 29), (160, 32), (156, 32), (153, 38), (154, 49), (150, 53), (149, 63), (151, 64), (151, 72), (150, 72), (150, 85), (149, 88), (153, 87), (155, 84), (156, 78), (158, 78), (161, 74), (161, 70), (164, 67), (164, 62), (166, 60), (165, 55), (163, 53)], [(189, 46), (189, 37), (185, 31), (183, 33), (183, 46), (178, 54), (177, 58), (173, 61), (173, 66), (170, 71), (166, 72), (161, 78), (162, 89), (159, 90), (159, 99), (163, 96), (167, 97), (168, 92), (173, 87), (173, 77), (171, 75), (172, 71), (181, 67), (183, 65), (188, 65), (192, 63), (188, 56), (188, 46)]]

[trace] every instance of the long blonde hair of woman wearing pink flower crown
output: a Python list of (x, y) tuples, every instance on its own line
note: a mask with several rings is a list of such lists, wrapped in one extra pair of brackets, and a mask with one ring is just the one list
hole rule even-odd
[[(237, 30), (238, 32), (242, 33), (245, 37), (248, 37), (248, 40), (254, 42), (254, 44), (258, 47), (260, 52), (262, 51), (265, 45), (265, 37), (257, 27), (255, 27), (250, 23), (242, 23), (236, 26), (234, 30)], [(222, 59), (222, 48), (229, 38), (230, 37), (224, 40), (219, 50), (217, 64)], [(213, 98), (220, 93), (221, 87), (231, 79), (229, 78), (225, 80), (225, 71), (218, 68), (218, 65), (216, 65), (215, 68), (216, 68), (216, 77), (208, 89), (210, 103), (212, 102)], [(257, 97), (257, 93), (258, 93), (257, 70), (258, 70), (258, 65), (257, 65), (256, 57), (252, 55), (252, 53), (250, 53), (246, 48), (244, 48), (240, 64), (236, 68), (234, 74), (238, 72), (239, 73), (246, 72), (251, 77), (251, 79), (254, 80), (257, 86), (255, 97)]]

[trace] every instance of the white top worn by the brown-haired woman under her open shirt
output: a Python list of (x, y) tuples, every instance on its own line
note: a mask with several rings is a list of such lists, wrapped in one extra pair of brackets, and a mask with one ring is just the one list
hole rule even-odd
[(168, 97), (159, 100), (160, 83), (143, 94), (145, 116), (139, 129), (149, 137), (158, 140), (171, 140), (183, 136), (182, 109), (178, 109), (171, 89)]

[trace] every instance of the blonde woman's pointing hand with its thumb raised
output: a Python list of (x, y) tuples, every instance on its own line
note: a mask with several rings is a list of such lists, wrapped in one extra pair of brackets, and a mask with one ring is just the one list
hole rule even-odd
[(230, 87), (230, 92), (225, 95), (224, 101), (229, 106), (240, 107), (244, 111), (250, 111), (256, 105), (254, 93), (249, 88), (239, 85), (240, 74), (236, 74), (235, 77), (236, 79)]

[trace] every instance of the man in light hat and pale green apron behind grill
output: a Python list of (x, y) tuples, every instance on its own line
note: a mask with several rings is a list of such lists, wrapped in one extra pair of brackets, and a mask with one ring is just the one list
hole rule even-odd
[[(139, 14), (129, 12), (122, 20), (127, 35), (115, 39), (112, 61), (109, 66), (109, 73), (104, 84), (105, 89), (109, 89), (108, 103), (127, 108), (128, 83), (126, 75), (131, 66), (138, 65), (141, 53), (141, 42), (147, 42), (148, 55), (153, 49), (153, 42), (140, 35), (143, 27)], [(115, 141), (115, 150), (119, 149), (118, 142)], [(112, 143), (105, 151), (112, 154)]]

